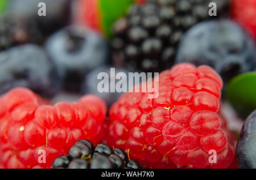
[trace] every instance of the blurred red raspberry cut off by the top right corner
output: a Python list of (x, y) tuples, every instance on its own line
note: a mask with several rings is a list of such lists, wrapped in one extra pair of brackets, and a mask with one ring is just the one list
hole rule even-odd
[(233, 0), (232, 17), (242, 25), (256, 40), (256, 1), (255, 0)]

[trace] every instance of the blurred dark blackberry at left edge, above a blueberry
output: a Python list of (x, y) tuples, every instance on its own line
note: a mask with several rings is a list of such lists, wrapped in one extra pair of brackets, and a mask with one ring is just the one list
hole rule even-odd
[(39, 44), (41, 41), (42, 36), (33, 20), (14, 15), (0, 18), (0, 51), (27, 42)]

